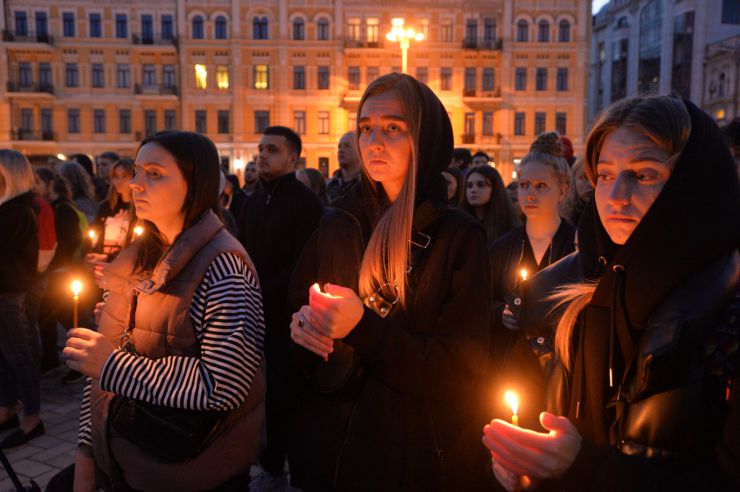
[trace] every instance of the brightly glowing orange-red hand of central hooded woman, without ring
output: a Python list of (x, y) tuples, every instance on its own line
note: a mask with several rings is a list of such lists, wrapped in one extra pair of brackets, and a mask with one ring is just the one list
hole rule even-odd
[(344, 338), (362, 318), (362, 301), (355, 291), (339, 285), (326, 284), (324, 292), (326, 294), (314, 287), (309, 289), (309, 304), (315, 327), (329, 338)]

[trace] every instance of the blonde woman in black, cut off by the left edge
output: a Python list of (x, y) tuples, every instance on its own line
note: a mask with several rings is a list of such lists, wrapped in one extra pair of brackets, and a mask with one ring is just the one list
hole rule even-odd
[(0, 441), (0, 449), (44, 433), (39, 373), (24, 308), (39, 255), (33, 185), (28, 159), (16, 150), (0, 149), (0, 432), (15, 429)]

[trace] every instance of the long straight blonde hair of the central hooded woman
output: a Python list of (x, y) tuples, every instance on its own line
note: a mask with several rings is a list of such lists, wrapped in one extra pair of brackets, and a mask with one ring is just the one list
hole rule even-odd
[[(414, 219), (414, 201), (416, 198), (416, 176), (419, 156), (419, 129), (421, 128), (421, 97), (410, 79), (399, 74), (389, 74), (372, 82), (360, 100), (357, 114), (368, 98), (393, 91), (398, 94), (408, 126), (411, 144), (411, 162), (404, 179), (401, 192), (396, 200), (380, 217), (368, 241), (360, 267), (359, 290), (365, 298), (381, 288), (386, 293), (395, 292), (401, 306), (406, 305), (408, 285), (406, 271), (411, 254), (411, 228)], [(359, 120), (358, 120), (359, 121)], [(357, 141), (360, 138), (359, 124), (355, 129)], [(359, 146), (359, 144), (356, 144)], [(362, 162), (362, 153), (357, 152)], [(380, 183), (374, 181), (367, 173), (364, 163), (362, 172), (369, 181), (373, 191), (378, 191)]]

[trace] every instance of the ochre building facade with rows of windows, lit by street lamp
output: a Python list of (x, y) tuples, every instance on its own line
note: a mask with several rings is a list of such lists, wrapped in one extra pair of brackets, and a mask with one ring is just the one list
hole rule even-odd
[(582, 149), (588, 0), (3, 0), (0, 145), (133, 155), (167, 128), (207, 134), (240, 170), (268, 125), (295, 129), (331, 173), (364, 88), (401, 70), (391, 19), (424, 33), (410, 75), (447, 108), (455, 145), (509, 181), (534, 137)]

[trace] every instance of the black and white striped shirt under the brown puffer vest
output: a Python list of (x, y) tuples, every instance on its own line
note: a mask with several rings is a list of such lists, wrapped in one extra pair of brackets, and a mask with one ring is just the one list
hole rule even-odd
[[(105, 391), (188, 410), (233, 410), (247, 398), (265, 336), (257, 279), (238, 256), (222, 253), (193, 295), (190, 320), (201, 357), (162, 359), (115, 351), (100, 375)], [(90, 381), (80, 411), (78, 444), (92, 443)]]

